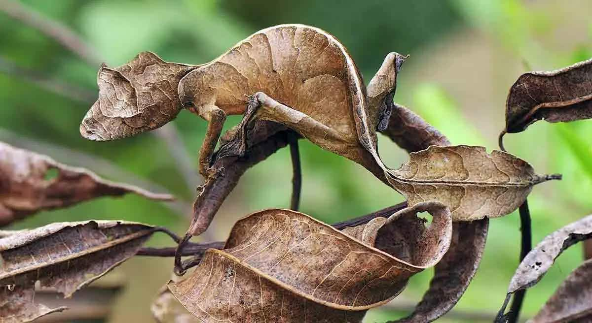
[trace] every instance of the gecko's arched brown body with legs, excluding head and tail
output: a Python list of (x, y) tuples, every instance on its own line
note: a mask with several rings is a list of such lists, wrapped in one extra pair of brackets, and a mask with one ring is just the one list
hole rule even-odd
[[(395, 90), (402, 61), (388, 54), (369, 83), (366, 104), (362, 77), (332, 35), (305, 25), (256, 32), (179, 82), (182, 104), (209, 122), (200, 151), (201, 174), (213, 172), (210, 164), (227, 115), (245, 115), (242, 124), (255, 113), (258, 119), (279, 119), (317, 145), (359, 161), (365, 154), (359, 141), (375, 146), (376, 127), (388, 122), (385, 98)], [(374, 129), (359, 131), (359, 109)], [(360, 133), (369, 137), (360, 140)], [(246, 141), (244, 135), (239, 138)], [(243, 143), (237, 153), (244, 149)]]

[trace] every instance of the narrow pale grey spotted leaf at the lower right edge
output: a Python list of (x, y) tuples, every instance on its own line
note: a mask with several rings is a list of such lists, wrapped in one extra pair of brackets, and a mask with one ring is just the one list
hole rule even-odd
[(508, 293), (535, 285), (551, 268), (556, 257), (574, 243), (592, 237), (592, 215), (549, 234), (522, 260), (510, 281)]

